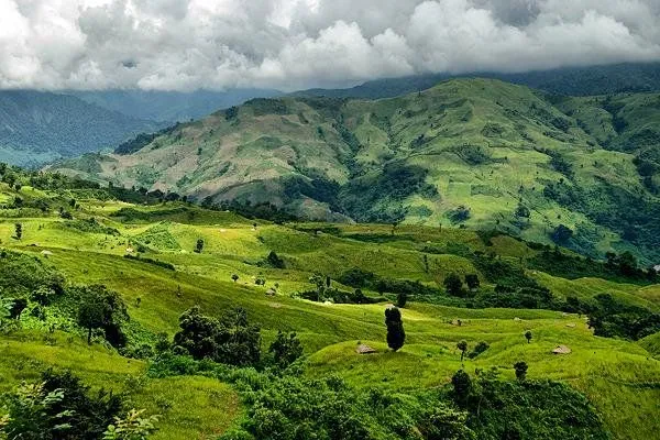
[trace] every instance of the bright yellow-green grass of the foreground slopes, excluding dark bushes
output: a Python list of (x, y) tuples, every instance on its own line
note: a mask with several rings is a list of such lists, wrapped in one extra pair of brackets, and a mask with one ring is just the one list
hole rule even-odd
[[(31, 189), (21, 191), (28, 197)], [(7, 188), (4, 193), (15, 195)], [(410, 224), (393, 231), (392, 226), (384, 224), (255, 223), (234, 213), (183, 204), (138, 207), (96, 199), (78, 202), (76, 220), (13, 212), (15, 217), (0, 220), (0, 241), (7, 249), (56, 267), (69, 283), (99, 283), (117, 290), (128, 305), (132, 328), (146, 341), (163, 331), (172, 337), (178, 317), (191, 306), (199, 305), (211, 316), (242, 306), (262, 327), (263, 346), (278, 330), (298, 333), (307, 355), (305, 372), (310, 377), (333, 373), (356, 387), (419, 389), (447, 384), (463, 365), (469, 372), (496, 366), (505, 378), (513, 378), (513, 364), (525, 361), (530, 378), (562, 381), (583, 392), (616, 439), (659, 438), (657, 334), (637, 343), (595, 337), (585, 317), (578, 315), (469, 309), (413, 300), (403, 310), (406, 345), (393, 353), (385, 343), (383, 312), (387, 302), (318, 304), (292, 297), (311, 289), (309, 277), (314, 273), (328, 275), (333, 285), (348, 289), (336, 279), (351, 268), (419, 280), (430, 287), (442, 286), (450, 273), (476, 273), (483, 279), (465, 250), (492, 252), (526, 267), (540, 251), (525, 242), (505, 235), (488, 241), (464, 229)], [(89, 221), (92, 218), (94, 223)], [(12, 238), (16, 222), (23, 227), (20, 241)], [(193, 251), (200, 238), (205, 246), (198, 254)], [(139, 245), (145, 246), (144, 257), (169, 263), (175, 271), (124, 257)], [(429, 249), (433, 253), (426, 252)], [(286, 268), (262, 264), (271, 251), (284, 260)], [(526, 272), (558, 297), (588, 300), (610, 293), (627, 304), (653, 310), (660, 307), (658, 286), (593, 277), (565, 279), (531, 268)], [(232, 274), (239, 275), (237, 282)], [(264, 286), (255, 285), (257, 277), (266, 279)], [(276, 290), (274, 296), (266, 295), (271, 288)], [(493, 285), (484, 280), (481, 288), (492, 289)], [(371, 290), (366, 294), (377, 295)], [(35, 378), (48, 366), (70, 369), (92, 387), (125, 391), (136, 407), (163, 415), (158, 439), (210, 439), (224, 432), (243, 411), (229, 385), (208, 377), (146, 377), (145, 361), (122, 358), (100, 344), (88, 346), (81, 334), (50, 333), (30, 322), (25, 318), (23, 330), (0, 336), (2, 391), (21, 380)], [(524, 337), (527, 330), (532, 332), (530, 343)], [(481, 341), (490, 348), (461, 363), (457, 350), (460, 340), (466, 340), (470, 350)], [(359, 342), (377, 353), (356, 354)], [(572, 352), (553, 354), (559, 344)]]

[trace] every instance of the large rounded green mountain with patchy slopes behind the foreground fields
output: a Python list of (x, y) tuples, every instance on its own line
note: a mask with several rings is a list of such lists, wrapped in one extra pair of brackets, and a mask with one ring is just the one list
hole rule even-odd
[(494, 79), (382, 100), (255, 99), (54, 169), (310, 220), (497, 230), (660, 261), (660, 95)]

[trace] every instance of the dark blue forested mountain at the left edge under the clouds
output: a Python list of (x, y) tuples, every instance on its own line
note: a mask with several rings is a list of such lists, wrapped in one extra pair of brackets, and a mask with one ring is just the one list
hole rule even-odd
[(0, 91), (0, 161), (38, 165), (113, 148), (162, 123), (131, 118), (76, 97), (32, 90)]

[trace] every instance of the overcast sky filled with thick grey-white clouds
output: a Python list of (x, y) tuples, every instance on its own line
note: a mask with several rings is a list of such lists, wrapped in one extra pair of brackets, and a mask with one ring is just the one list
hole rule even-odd
[(333, 87), (660, 61), (660, 0), (0, 0), (0, 88)]

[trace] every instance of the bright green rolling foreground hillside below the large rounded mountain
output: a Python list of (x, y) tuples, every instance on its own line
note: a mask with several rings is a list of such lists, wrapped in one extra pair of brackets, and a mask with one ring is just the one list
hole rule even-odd
[[(602, 264), (450, 227), (275, 224), (10, 167), (0, 198), (0, 304), (14, 318), (0, 315), (1, 392), (69, 370), (160, 415), (150, 439), (658, 438), (660, 289), (625, 255)], [(125, 317), (88, 344), (80, 295), (107, 292), (94, 285)], [(400, 294), (395, 352), (383, 318)], [(174, 337), (194, 306), (244, 308), (262, 360), (195, 360)], [(267, 350), (278, 331), (302, 348), (289, 369)], [(465, 399), (459, 370), (474, 382)]]

